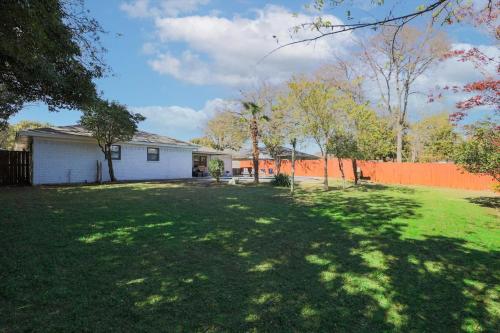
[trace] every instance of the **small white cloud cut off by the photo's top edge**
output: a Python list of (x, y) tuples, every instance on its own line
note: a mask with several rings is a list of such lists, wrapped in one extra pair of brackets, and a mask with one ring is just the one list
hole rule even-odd
[(177, 16), (192, 13), (210, 0), (133, 0), (123, 2), (120, 9), (131, 17)]

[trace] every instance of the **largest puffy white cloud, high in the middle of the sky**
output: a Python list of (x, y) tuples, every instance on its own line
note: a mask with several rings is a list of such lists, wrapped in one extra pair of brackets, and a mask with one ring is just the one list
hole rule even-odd
[[(327, 17), (333, 23), (335, 17)], [(269, 51), (290, 39), (290, 28), (311, 21), (312, 17), (278, 6), (266, 6), (256, 11), (255, 18), (235, 16), (158, 17), (156, 33), (164, 45), (181, 43), (186, 51), (171, 49), (150, 60), (153, 70), (193, 84), (240, 86), (256, 79), (281, 81), (294, 73), (311, 71), (328, 61), (334, 54), (347, 52), (353, 35), (343, 33), (322, 38), (312, 44), (284, 48), (270, 55)], [(273, 38), (273, 35), (276, 38)], [(313, 36), (301, 31), (293, 37)]]

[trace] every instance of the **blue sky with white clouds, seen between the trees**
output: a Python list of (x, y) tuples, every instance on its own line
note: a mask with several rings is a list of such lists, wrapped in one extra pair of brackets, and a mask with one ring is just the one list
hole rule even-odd
[[(348, 3), (349, 0), (347, 0)], [(386, 1), (380, 8), (371, 1), (353, 0), (356, 18), (380, 17), (394, 3), (397, 11), (416, 8), (422, 1)], [(143, 113), (141, 129), (179, 139), (202, 135), (204, 122), (237, 98), (240, 89), (256, 80), (280, 82), (290, 75), (310, 72), (331, 60), (332, 54), (349, 54), (353, 39), (345, 34), (314, 45), (302, 45), (258, 60), (276, 44), (289, 40), (289, 28), (310, 19), (307, 1), (250, 0), (89, 0), (86, 7), (108, 32), (103, 45), (112, 75), (97, 82), (108, 99)], [(404, 3), (403, 5), (401, 3)], [(345, 20), (345, 7), (329, 10), (331, 19)], [(293, 13), (298, 13), (295, 17)], [(422, 20), (416, 22), (422, 25)], [(455, 46), (476, 45), (496, 52), (488, 37), (470, 25), (446, 27)], [(462, 45), (463, 44), (463, 45)], [(475, 78), (470, 66), (441, 64), (422, 82), (463, 83)], [(412, 101), (415, 110), (448, 109), (452, 101), (428, 106), (425, 98)], [(418, 112), (415, 112), (418, 113)], [(48, 112), (43, 105), (27, 106), (11, 118), (54, 125), (74, 124), (78, 111)]]

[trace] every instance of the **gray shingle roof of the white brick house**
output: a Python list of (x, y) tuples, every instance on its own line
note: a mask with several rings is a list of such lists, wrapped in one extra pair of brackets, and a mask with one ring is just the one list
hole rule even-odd
[[(36, 135), (37, 133), (39, 133), (39, 134), (56, 134), (56, 135), (57, 134), (75, 135), (75, 136), (82, 136), (89, 138), (92, 137), (92, 134), (80, 125), (41, 127), (41, 128), (31, 129), (29, 131), (26, 131), (26, 133), (29, 135)], [(135, 133), (134, 137), (129, 142), (196, 147), (196, 145), (189, 142), (143, 131), (138, 131), (137, 133)]]

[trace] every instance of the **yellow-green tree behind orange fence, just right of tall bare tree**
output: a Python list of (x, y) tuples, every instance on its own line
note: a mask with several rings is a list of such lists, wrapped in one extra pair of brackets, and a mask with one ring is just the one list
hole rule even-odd
[(447, 112), (411, 125), (408, 137), (412, 162), (452, 160), (459, 139)]

